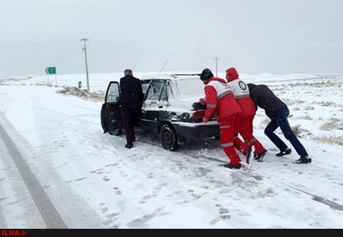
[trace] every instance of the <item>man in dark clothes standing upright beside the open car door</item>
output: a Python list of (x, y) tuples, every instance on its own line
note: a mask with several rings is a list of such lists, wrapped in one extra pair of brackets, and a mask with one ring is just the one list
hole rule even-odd
[(143, 105), (143, 89), (140, 79), (134, 77), (131, 69), (125, 69), (120, 78), (120, 114), (125, 130), (125, 148), (134, 147), (134, 126), (139, 122)]

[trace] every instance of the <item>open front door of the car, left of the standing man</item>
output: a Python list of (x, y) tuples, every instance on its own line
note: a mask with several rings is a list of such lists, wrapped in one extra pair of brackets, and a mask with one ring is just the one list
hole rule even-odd
[(109, 82), (105, 103), (101, 108), (101, 125), (104, 132), (108, 132), (111, 135), (119, 135), (122, 131), (119, 96), (119, 83), (116, 81)]

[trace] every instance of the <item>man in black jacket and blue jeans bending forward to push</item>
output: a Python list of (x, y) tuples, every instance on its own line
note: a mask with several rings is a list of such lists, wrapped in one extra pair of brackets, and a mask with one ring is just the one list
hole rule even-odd
[(255, 103), (255, 109), (257, 105), (264, 109), (265, 114), (272, 120), (264, 129), (264, 134), (275, 144), (280, 152), (276, 156), (283, 156), (291, 154), (291, 149), (274, 133), (274, 131), (280, 127), (283, 131), (284, 137), (291, 142), (293, 148), (301, 156), (299, 160), (294, 160), (296, 164), (311, 163), (311, 158), (305, 148), (302, 146), (301, 141), (292, 132), (290, 123), (288, 122), (288, 116), (290, 110), (283, 101), (273, 94), (273, 91), (265, 85), (247, 84), (250, 91), (250, 96)]

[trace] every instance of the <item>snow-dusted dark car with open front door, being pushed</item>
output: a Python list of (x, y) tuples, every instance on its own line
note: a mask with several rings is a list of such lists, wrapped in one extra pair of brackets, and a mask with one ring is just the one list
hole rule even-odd
[[(156, 75), (141, 78), (144, 104), (139, 127), (144, 132), (160, 135), (162, 147), (177, 150), (189, 139), (219, 137), (219, 123), (213, 116), (202, 123), (206, 107), (199, 103), (204, 97), (204, 85), (197, 74)], [(119, 135), (122, 130), (120, 87), (109, 82), (105, 103), (101, 109), (104, 132)]]

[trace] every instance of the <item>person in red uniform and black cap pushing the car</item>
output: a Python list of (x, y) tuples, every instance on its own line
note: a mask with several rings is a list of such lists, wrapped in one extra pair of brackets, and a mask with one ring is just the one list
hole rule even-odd
[(237, 132), (236, 122), (241, 109), (225, 79), (213, 77), (209, 68), (203, 69), (200, 79), (205, 85), (206, 95), (205, 99), (199, 99), (202, 105), (206, 105), (203, 122), (208, 123), (212, 114), (216, 114), (216, 120), (220, 124), (220, 144), (230, 160), (225, 167), (240, 169), (241, 159), (234, 147), (234, 134)]

